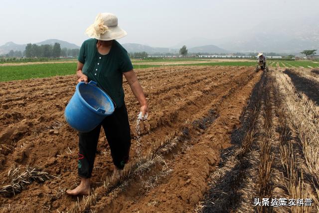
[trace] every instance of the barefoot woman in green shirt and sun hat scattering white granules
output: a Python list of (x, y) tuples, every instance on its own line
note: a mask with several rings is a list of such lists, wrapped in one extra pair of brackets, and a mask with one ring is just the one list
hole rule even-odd
[(132, 62), (124, 47), (115, 39), (127, 32), (118, 26), (118, 18), (111, 13), (99, 13), (95, 22), (86, 29), (90, 39), (83, 42), (78, 57), (78, 82), (95, 81), (113, 100), (115, 111), (88, 133), (79, 133), (78, 175), (81, 183), (69, 195), (88, 195), (96, 148), (101, 126), (110, 146), (114, 175), (124, 169), (129, 160), (131, 134), (122, 86), (123, 74), (141, 105), (142, 117), (148, 112), (143, 89), (133, 71)]

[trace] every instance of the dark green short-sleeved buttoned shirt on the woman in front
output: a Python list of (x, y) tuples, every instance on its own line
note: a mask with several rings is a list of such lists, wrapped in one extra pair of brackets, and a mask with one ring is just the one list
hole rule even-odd
[(117, 107), (121, 107), (124, 104), (123, 72), (133, 69), (132, 62), (126, 49), (116, 40), (106, 55), (98, 52), (97, 42), (97, 39), (90, 38), (81, 45), (78, 60), (84, 64), (82, 73), (89, 81), (97, 82)]

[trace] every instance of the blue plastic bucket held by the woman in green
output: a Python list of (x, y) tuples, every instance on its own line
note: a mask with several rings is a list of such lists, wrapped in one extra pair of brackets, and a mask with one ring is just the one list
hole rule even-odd
[(80, 82), (64, 111), (66, 122), (79, 132), (90, 132), (114, 112), (111, 98), (96, 82)]

